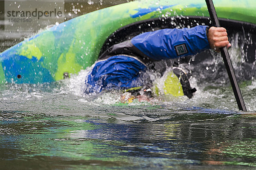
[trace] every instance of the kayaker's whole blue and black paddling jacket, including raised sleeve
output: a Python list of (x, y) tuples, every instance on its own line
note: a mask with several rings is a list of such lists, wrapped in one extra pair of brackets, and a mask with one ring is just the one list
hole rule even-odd
[(85, 93), (144, 85), (140, 75), (154, 61), (174, 59), (209, 49), (208, 26), (160, 29), (113, 45), (87, 75)]

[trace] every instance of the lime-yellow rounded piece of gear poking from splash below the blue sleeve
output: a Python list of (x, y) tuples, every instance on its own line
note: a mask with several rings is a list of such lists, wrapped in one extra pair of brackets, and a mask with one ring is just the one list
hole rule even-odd
[(179, 78), (170, 72), (164, 82), (164, 94), (172, 94), (173, 96), (184, 96), (182, 85)]

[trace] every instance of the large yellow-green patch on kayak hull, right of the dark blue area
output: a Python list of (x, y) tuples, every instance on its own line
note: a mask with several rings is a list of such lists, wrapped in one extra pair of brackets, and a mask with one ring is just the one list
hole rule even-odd
[(69, 74), (78, 73), (83, 67), (76, 63), (76, 54), (73, 52), (74, 40), (71, 43), (69, 51), (58, 58), (58, 69), (55, 72), (55, 80), (63, 79), (63, 74), (68, 72)]

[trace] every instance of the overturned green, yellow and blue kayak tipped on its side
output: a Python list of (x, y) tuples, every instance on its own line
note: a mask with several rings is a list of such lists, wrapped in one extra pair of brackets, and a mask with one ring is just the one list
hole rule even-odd
[[(214, 4), (221, 26), (229, 34), (255, 34), (256, 1), (215, 0)], [(196, 25), (211, 26), (204, 0), (141, 0), (93, 11), (47, 28), (0, 53), (0, 82), (58, 81), (91, 66), (111, 45), (137, 34)]]

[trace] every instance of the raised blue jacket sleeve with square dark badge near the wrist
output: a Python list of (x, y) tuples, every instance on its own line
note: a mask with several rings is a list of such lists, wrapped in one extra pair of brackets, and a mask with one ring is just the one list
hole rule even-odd
[(209, 49), (208, 26), (182, 29), (160, 29), (145, 32), (131, 39), (131, 43), (148, 57), (161, 60), (195, 55)]

